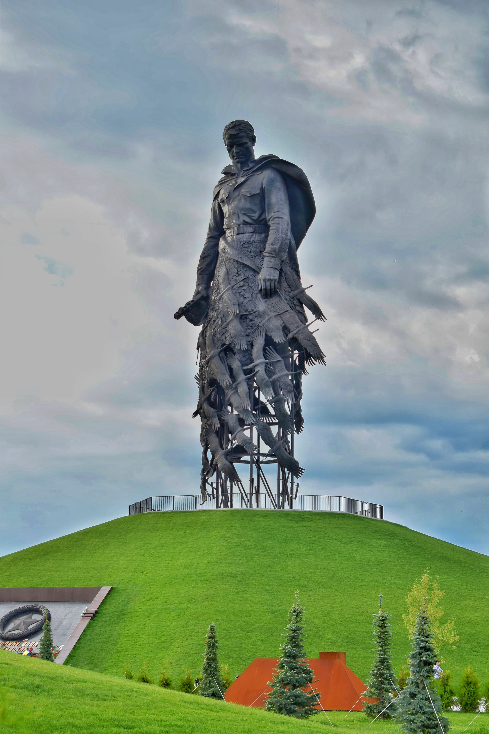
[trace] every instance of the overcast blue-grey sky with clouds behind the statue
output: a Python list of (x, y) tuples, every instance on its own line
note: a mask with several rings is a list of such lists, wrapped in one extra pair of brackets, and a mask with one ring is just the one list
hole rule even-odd
[[(487, 0), (4, 0), (0, 553), (199, 491), (222, 130), (304, 169), (301, 491), (489, 553)], [(422, 571), (422, 569), (420, 570)]]

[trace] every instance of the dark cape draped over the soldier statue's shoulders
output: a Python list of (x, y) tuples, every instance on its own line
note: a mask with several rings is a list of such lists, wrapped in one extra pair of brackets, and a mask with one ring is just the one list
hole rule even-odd
[[(289, 161), (284, 161), (279, 156), (272, 155), (257, 158), (254, 166), (243, 171), (241, 179), (244, 181), (257, 171), (262, 171), (265, 168), (275, 168), (284, 178), (287, 194), (289, 195), (290, 231), (295, 241), (295, 250), (298, 250), (316, 215), (316, 205), (311, 185), (301, 168)], [(222, 172), (224, 176), (214, 189), (214, 198), (216, 198), (225, 183), (231, 183), (237, 177), (237, 173), (232, 166), (226, 166)]]

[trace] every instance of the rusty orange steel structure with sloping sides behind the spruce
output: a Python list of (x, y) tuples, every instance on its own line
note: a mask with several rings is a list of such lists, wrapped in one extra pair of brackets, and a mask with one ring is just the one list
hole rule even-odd
[[(361, 711), (359, 698), (367, 686), (348, 668), (345, 660), (345, 653), (320, 653), (319, 658), (307, 661), (317, 678), (313, 687), (320, 693), (321, 706), (325, 711), (350, 711), (351, 708)], [(270, 690), (268, 682), (272, 680), (277, 662), (278, 658), (254, 660), (229, 686), (226, 700), (242, 706), (264, 708), (265, 696)]]

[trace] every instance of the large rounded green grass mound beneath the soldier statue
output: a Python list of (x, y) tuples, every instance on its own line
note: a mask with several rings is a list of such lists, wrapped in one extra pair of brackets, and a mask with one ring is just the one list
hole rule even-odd
[(122, 517), (4, 556), (0, 586), (114, 590), (68, 663), (122, 675), (147, 661), (178, 680), (198, 674), (216, 622), (231, 675), (279, 654), (295, 589), (306, 607), (306, 653), (345, 650), (363, 680), (372, 659), (377, 595), (392, 614), (394, 661), (409, 645), (401, 613), (408, 586), (430, 567), (446, 591), (460, 642), (444, 653), (456, 680), (489, 670), (489, 557), (393, 523), (352, 515), (230, 510)]

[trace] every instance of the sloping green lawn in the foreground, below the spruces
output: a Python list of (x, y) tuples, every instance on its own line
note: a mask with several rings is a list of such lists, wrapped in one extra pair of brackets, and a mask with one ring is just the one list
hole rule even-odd
[[(14, 697), (8, 713), (20, 721), (1, 727), (5, 734), (18, 732), (21, 726), (32, 734), (326, 734), (331, 730), (324, 713), (301, 722), (0, 650), (0, 691), (7, 686), (8, 695)], [(360, 734), (368, 723), (361, 713), (350, 713), (347, 719), (342, 711), (328, 716), (338, 734)], [(455, 734), (462, 734), (473, 718), (474, 714), (449, 713)], [(399, 726), (378, 720), (367, 731), (397, 734)], [(468, 732), (488, 734), (489, 714), (481, 714)]]

